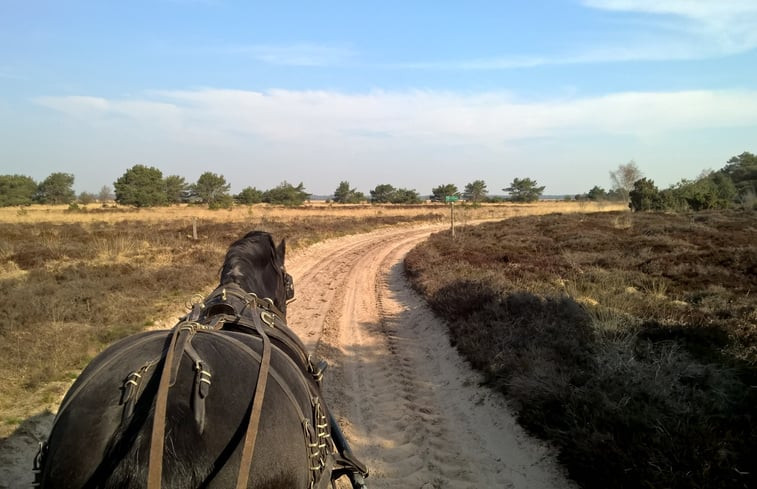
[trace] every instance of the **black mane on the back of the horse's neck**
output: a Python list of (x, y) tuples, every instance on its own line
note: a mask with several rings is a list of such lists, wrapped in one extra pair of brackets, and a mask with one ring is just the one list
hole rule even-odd
[(276, 246), (269, 233), (251, 231), (229, 246), (221, 267), (221, 285), (245, 283), (268, 263), (276, 263)]

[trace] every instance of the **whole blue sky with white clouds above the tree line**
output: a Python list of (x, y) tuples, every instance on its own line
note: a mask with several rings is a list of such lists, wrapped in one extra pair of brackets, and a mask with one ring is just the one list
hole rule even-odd
[(0, 173), (660, 187), (757, 152), (754, 0), (0, 2)]

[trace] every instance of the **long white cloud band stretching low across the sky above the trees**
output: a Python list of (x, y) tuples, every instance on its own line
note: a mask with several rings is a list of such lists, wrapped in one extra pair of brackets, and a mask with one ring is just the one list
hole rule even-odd
[(627, 92), (523, 102), (506, 93), (202, 89), (154, 92), (139, 100), (75, 96), (36, 101), (93, 125), (128, 125), (178, 139), (191, 135), (197, 144), (246, 144), (254, 137), (318, 147), (498, 146), (576, 134), (648, 137), (757, 125), (757, 91)]

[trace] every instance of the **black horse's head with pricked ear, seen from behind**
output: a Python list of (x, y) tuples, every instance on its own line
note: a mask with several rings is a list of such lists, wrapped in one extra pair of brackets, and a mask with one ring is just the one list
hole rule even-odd
[(294, 285), (284, 267), (285, 253), (283, 239), (276, 246), (270, 234), (249, 232), (229, 246), (220, 285), (236, 284), (245, 292), (269, 298), (286, 315), (287, 301), (294, 297)]

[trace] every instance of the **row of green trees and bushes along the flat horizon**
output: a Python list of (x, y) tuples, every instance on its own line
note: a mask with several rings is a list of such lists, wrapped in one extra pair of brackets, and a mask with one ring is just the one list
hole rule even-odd
[[(665, 190), (644, 178), (635, 162), (619, 165), (610, 172), (612, 187), (605, 190), (594, 186), (588, 192), (574, 196), (575, 200), (629, 202), (635, 211), (645, 210), (703, 210), (726, 208), (734, 204), (754, 207), (757, 202), (757, 156), (744, 152), (728, 160), (718, 171), (703, 173), (696, 180), (681, 180)], [(292, 185), (286, 181), (278, 186), (259, 190), (245, 187), (238, 194), (230, 193), (231, 185), (223, 175), (205, 172), (195, 183), (179, 175), (163, 176), (155, 167), (134, 165), (113, 184), (113, 192), (103, 186), (99, 194), (73, 190), (74, 176), (70, 173), (53, 173), (42, 182), (24, 175), (0, 175), (0, 206), (42, 204), (88, 204), (94, 201), (114, 200), (121, 205), (151, 207), (178, 203), (203, 203), (210, 208), (228, 208), (234, 204), (251, 205), (270, 203), (301, 205), (310, 199), (302, 183)], [(506, 197), (490, 196), (483, 180), (474, 180), (459, 190), (455, 184), (443, 184), (431, 189), (430, 199), (445, 202), (447, 197), (462, 198), (471, 203), (534, 202), (541, 198), (545, 187), (531, 178), (514, 178)], [(367, 196), (341, 181), (330, 199), (338, 204), (370, 202), (375, 204), (417, 204), (422, 201), (415, 189), (395, 188), (379, 184)]]

